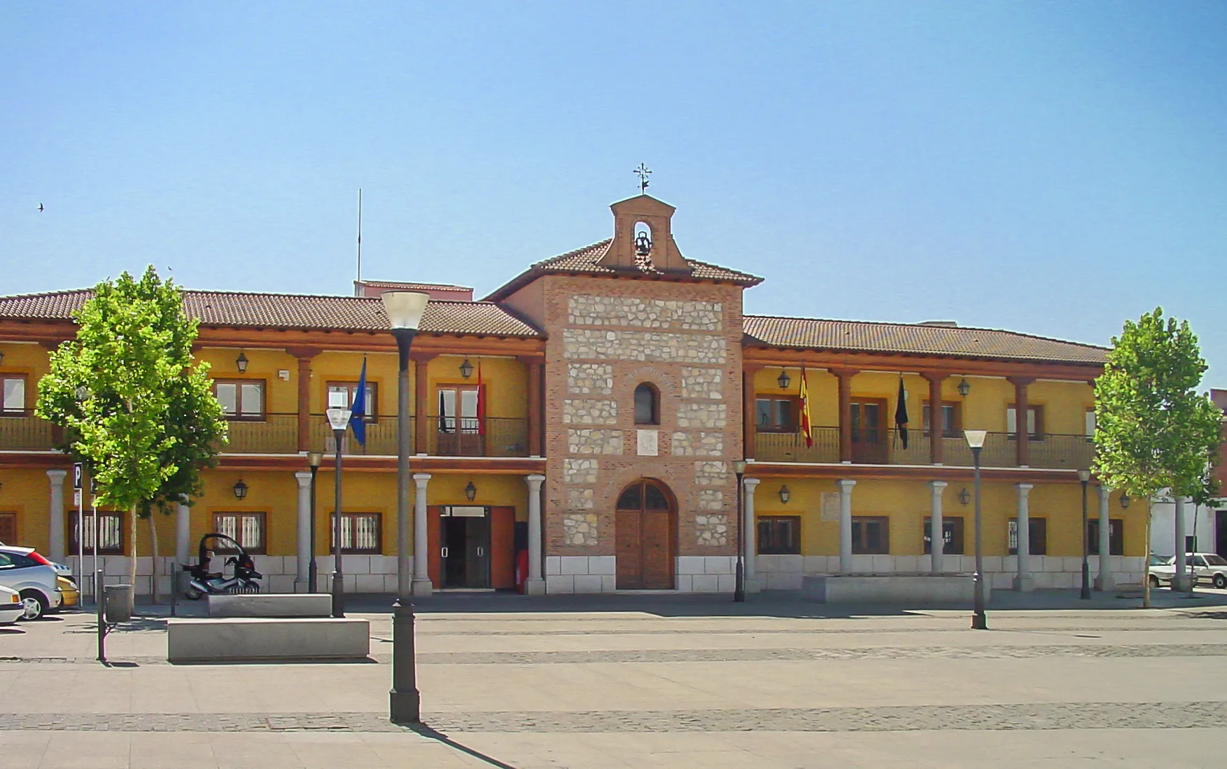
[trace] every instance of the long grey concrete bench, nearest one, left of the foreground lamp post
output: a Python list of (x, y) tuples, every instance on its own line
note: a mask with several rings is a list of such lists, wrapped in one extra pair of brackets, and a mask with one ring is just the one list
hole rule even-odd
[(171, 662), (360, 660), (371, 654), (366, 619), (253, 618), (171, 619)]

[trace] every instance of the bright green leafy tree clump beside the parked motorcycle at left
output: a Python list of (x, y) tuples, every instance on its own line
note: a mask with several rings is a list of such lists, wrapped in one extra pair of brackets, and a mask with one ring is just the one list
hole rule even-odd
[(227, 425), (209, 365), (191, 359), (198, 323), (152, 267), (94, 286), (75, 318), (76, 339), (52, 353), (36, 412), (65, 429), (63, 448), (88, 466), (98, 501), (130, 512), (135, 584), (136, 518), (150, 520), (156, 558), (153, 510), (201, 493), (200, 470), (216, 462)]

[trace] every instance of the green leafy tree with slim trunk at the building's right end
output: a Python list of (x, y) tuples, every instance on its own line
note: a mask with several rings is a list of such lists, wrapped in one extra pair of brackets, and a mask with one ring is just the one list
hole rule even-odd
[[(1188, 321), (1164, 318), (1162, 307), (1125, 321), (1103, 375), (1094, 381), (1094, 472), (1103, 483), (1146, 502), (1150, 558), (1151, 500), (1173, 496), (1205, 502), (1218, 491), (1210, 472), (1222, 446), (1222, 412), (1198, 384), (1206, 361)], [(1150, 606), (1150, 580), (1142, 579)]]

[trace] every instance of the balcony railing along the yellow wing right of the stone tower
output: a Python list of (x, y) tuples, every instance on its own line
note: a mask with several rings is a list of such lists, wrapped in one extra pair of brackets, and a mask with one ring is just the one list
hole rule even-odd
[[(814, 427), (812, 446), (798, 432), (755, 434), (755, 459), (758, 462), (839, 462), (839, 427)], [(852, 462), (854, 464), (930, 464), (931, 451), (928, 431), (897, 429), (852, 430)], [(972, 467), (972, 450), (960, 436), (942, 436), (942, 464)], [(1010, 432), (989, 432), (980, 451), (980, 467), (1017, 467), (1017, 436)], [(1094, 457), (1094, 443), (1085, 435), (1039, 435), (1028, 442), (1029, 467), (1052, 469), (1087, 469)]]

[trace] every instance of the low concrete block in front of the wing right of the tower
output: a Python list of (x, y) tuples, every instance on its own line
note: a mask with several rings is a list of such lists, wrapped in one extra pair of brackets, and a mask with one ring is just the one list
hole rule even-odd
[[(837, 574), (801, 580), (801, 595), (817, 603), (969, 603), (973, 591), (969, 574)], [(984, 601), (991, 595), (985, 580)]]

